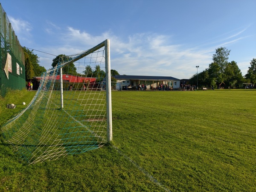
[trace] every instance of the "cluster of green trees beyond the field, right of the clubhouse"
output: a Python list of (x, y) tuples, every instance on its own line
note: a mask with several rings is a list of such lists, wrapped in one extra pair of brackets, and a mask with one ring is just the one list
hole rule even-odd
[[(209, 68), (201, 73), (194, 74), (190, 79), (190, 84), (197, 84), (198, 87), (217, 88), (220, 84), (224, 87), (239, 88), (243, 83), (256, 84), (256, 58), (253, 58), (248, 67), (247, 74), (242, 76), (241, 70), (236, 61), (228, 62), (230, 51), (226, 47), (215, 49), (212, 55), (212, 63)], [(222, 86), (221, 85), (221, 86)]]

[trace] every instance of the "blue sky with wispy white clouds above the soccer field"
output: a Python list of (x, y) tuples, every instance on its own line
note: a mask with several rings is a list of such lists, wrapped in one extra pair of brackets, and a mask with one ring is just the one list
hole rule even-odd
[[(256, 0), (0, 0), (21, 46), (51, 68), (110, 39), (120, 75), (189, 79), (230, 51), (244, 76), (256, 58)], [(199, 68), (196, 68), (199, 66)]]

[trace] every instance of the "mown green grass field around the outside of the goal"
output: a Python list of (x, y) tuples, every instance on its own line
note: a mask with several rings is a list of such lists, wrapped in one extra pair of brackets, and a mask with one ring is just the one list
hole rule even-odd
[[(0, 126), (35, 92), (0, 99)], [(17, 99), (18, 98), (18, 99)], [(113, 143), (26, 165), (0, 136), (0, 191), (256, 191), (256, 90), (114, 91)]]

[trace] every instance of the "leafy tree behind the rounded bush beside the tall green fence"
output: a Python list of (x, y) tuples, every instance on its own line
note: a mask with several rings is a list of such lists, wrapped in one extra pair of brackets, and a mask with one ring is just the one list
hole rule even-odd
[(46, 69), (38, 64), (40, 62), (38, 55), (35, 55), (33, 53), (34, 50), (29, 50), (26, 47), (22, 47), (22, 48), (23, 48), (24, 54), (25, 54), (25, 52), (27, 53), (27, 55), (29, 57), (29, 60), (31, 62), (31, 65), (32, 65), (31, 69), (34, 71), (34, 75), (33, 76), (41, 76), (41, 74), (43, 72), (45, 72)]

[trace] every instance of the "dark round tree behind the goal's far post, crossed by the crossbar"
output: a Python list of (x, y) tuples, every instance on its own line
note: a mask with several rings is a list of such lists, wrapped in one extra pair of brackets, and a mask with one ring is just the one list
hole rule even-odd
[[(62, 64), (70, 60), (71, 58), (67, 55), (64, 55), (64, 54), (58, 55), (54, 59), (52, 59), (52, 67), (55, 67), (56, 65), (58, 65), (59, 62), (60, 64)], [(70, 62), (69, 64), (65, 65), (62, 69), (62, 73), (76, 76), (77, 72), (76, 72), (75, 64), (73, 62)]]

